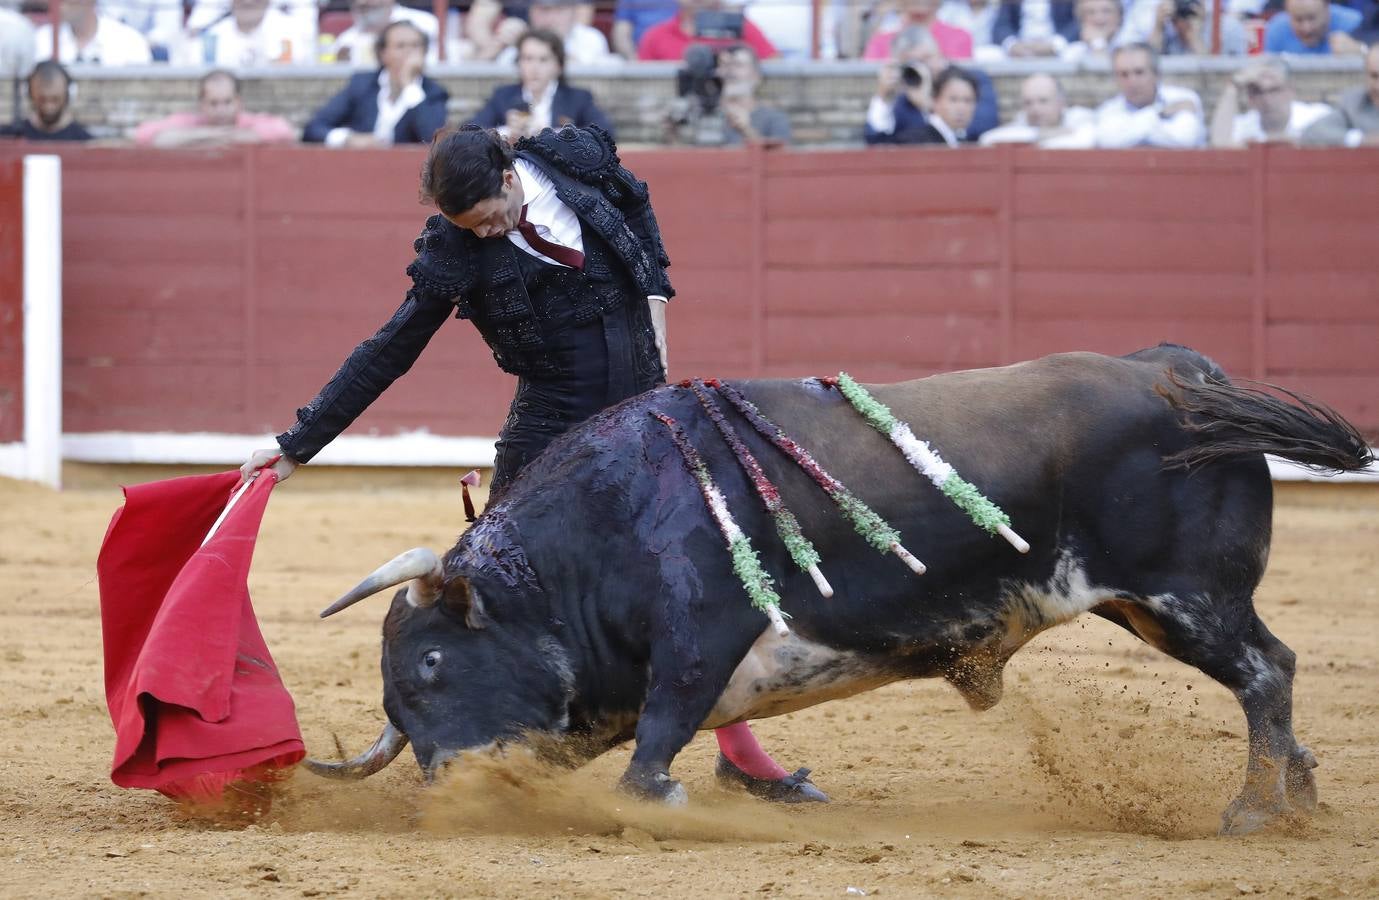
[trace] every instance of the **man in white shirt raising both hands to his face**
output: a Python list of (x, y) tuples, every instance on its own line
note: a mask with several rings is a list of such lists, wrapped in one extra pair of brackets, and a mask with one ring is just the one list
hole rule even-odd
[[(1245, 112), (1240, 112), (1241, 94), (1248, 106)], [(1288, 81), (1288, 63), (1282, 59), (1256, 59), (1222, 90), (1211, 120), (1211, 145), (1298, 143), (1302, 132), (1329, 112), (1325, 103), (1305, 103), (1296, 98)]]

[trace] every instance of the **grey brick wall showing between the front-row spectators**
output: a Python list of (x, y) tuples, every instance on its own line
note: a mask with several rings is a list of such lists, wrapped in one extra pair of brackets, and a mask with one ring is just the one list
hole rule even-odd
[[(1164, 80), (1201, 94), (1209, 109), (1226, 79), (1240, 65), (1229, 58), (1174, 58), (1164, 61)], [(1362, 83), (1358, 58), (1299, 59), (1294, 77), (1300, 99), (1333, 99)], [(619, 142), (662, 143), (662, 113), (674, 95), (674, 66), (641, 63), (618, 73), (575, 72), (571, 81), (592, 90), (612, 117)], [(867, 99), (876, 85), (876, 66), (863, 62), (774, 63), (763, 88), (767, 103), (790, 113), (798, 143), (847, 145), (862, 136)], [(1009, 61), (987, 66), (1001, 98), (1003, 119), (1014, 114), (1020, 80), (1036, 70), (1063, 79), (1071, 103), (1095, 106), (1116, 92), (1107, 66), (1073, 66)], [(77, 112), (81, 121), (106, 136), (121, 136), (134, 125), (194, 106), (199, 70), (167, 66), (116, 70), (77, 69)], [(272, 112), (302, 125), (312, 112), (338, 91), (348, 76), (341, 66), (303, 66), (292, 70), (259, 69), (244, 73), (250, 109)], [(505, 66), (448, 66), (437, 76), (450, 90), (450, 120), (473, 114), (492, 88), (513, 80)], [(12, 112), (11, 92), (0, 91), (0, 116)]]

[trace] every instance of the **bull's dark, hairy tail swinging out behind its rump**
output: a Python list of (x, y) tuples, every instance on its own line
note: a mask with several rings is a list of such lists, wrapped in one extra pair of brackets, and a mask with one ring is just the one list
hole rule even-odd
[(1356, 471), (1375, 462), (1364, 436), (1325, 404), (1262, 382), (1244, 387), (1207, 376), (1193, 383), (1176, 372), (1168, 379), (1169, 386), (1156, 390), (1196, 437), (1191, 447), (1164, 459), (1169, 467), (1191, 469), (1249, 453), (1273, 453), (1318, 471)]

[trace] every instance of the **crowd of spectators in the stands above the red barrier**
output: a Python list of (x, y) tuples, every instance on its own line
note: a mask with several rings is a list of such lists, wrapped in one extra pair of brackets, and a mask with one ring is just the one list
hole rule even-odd
[[(818, 37), (807, 0), (616, 0), (605, 30), (594, 26), (587, 0), (452, 0), (443, 19), (423, 0), (411, 1), (349, 0), (345, 14), (319, 6), (325, 0), (62, 0), (58, 21), (36, 26), (7, 8), (17, 0), (0, 0), (0, 70), (28, 73), (26, 110), (3, 131), (88, 139), (72, 117), (66, 65), (171, 62), (210, 70), (197, 109), (145, 123), (131, 135), (137, 143), (421, 143), (447, 124), (448, 94), (426, 74), (444, 57), (516, 70), (516, 83), (496, 88), (472, 119), (512, 139), (568, 123), (612, 131), (593, 95), (567, 81), (567, 63), (673, 61), (683, 69), (678, 99), (665, 110), (669, 142), (779, 145), (792, 139), (790, 120), (761, 102), (760, 63), (821, 55), (880, 63), (865, 110), (867, 143), (1379, 141), (1379, 0), (1222, 0), (1215, 22), (1212, 0), (825, 0)], [(1208, 117), (1196, 92), (1162, 83), (1158, 62), (1214, 52), (1241, 57), (1241, 66)], [(1362, 54), (1367, 84), (1336, 106), (1300, 102), (1291, 54)], [(1019, 113), (1001, 124), (982, 66), (1007, 58), (1105, 61), (1118, 92), (1096, 109), (1069, 106), (1054, 74), (1031, 74), (1020, 85)], [(336, 63), (350, 74), (301, 135), (281, 119), (243, 109), (237, 70), (303, 62)]]

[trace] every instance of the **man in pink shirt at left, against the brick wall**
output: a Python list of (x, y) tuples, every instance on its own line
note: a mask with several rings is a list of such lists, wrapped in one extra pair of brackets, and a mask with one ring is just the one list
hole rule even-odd
[(134, 132), (134, 142), (153, 147), (205, 147), (226, 143), (285, 143), (296, 141), (296, 128), (285, 119), (245, 113), (240, 83), (223, 69), (201, 77), (197, 112), (174, 113), (146, 121)]

